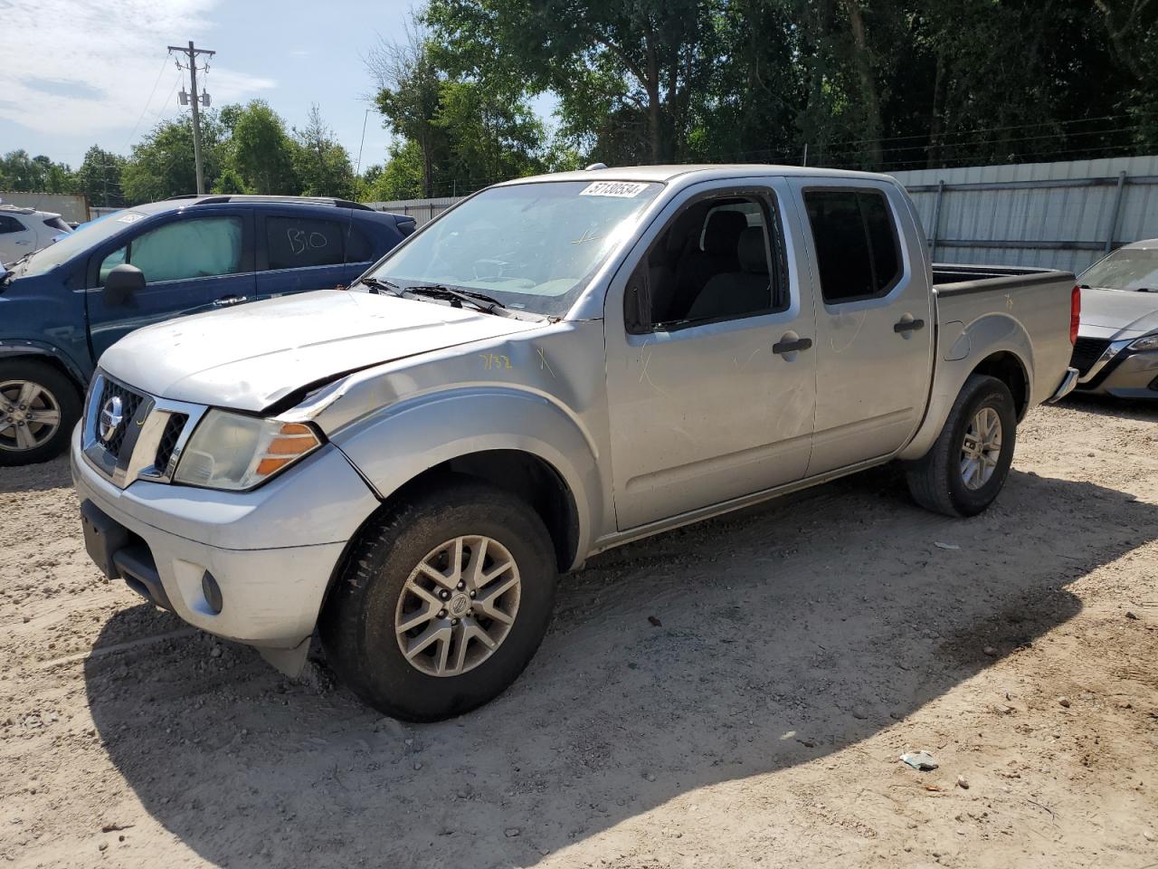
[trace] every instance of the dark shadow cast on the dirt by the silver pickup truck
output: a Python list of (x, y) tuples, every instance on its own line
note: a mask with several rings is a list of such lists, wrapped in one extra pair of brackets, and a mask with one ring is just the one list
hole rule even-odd
[[(1158, 509), (1091, 483), (1014, 472), (959, 521), (885, 469), (593, 560), (528, 671), (455, 721), (383, 720), (324, 667), (292, 682), (199, 634), (94, 656), (85, 678), (112, 762), (205, 860), (530, 866), (893, 725), (1071, 619), (1069, 583), (1156, 538)], [(177, 627), (134, 607), (97, 647)]]

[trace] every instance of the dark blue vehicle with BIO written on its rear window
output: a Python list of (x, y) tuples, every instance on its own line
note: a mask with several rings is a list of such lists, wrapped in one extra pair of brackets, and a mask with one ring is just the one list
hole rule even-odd
[(133, 329), (345, 286), (413, 231), (344, 199), (190, 196), (0, 265), (0, 466), (64, 452), (97, 359)]

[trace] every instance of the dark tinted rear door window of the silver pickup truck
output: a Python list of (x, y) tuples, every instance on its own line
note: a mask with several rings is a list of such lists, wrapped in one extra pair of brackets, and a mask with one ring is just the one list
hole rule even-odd
[(877, 190), (809, 190), (804, 195), (824, 301), (887, 295), (901, 277), (896, 228)]

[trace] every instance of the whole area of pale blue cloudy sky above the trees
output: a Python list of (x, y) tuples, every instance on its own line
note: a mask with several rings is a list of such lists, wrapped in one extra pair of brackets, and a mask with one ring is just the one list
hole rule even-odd
[[(0, 153), (24, 148), (78, 167), (98, 144), (126, 154), (177, 107), (167, 45), (212, 49), (213, 105), (263, 98), (291, 126), (312, 103), (358, 160), (379, 37), (403, 39), (409, 0), (0, 0)], [(198, 76), (201, 83), (201, 76)], [(547, 111), (548, 103), (542, 103)], [(390, 134), (371, 111), (362, 168)]]

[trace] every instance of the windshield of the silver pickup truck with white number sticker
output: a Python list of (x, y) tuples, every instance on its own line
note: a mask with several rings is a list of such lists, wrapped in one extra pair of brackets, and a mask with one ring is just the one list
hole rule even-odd
[(562, 316), (661, 189), (625, 181), (491, 188), (390, 254), (373, 277), (472, 290)]

